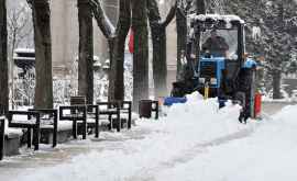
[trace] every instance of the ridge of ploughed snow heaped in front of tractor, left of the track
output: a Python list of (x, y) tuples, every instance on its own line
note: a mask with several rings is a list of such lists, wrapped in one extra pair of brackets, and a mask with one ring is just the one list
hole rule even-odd
[[(172, 106), (160, 121), (140, 120), (131, 132), (144, 131), (141, 139), (130, 139), (113, 150), (95, 150), (73, 158), (68, 163), (22, 176), (22, 180), (140, 180), (175, 165), (196, 147), (245, 129), (238, 123), (240, 108), (219, 110), (216, 99), (188, 97), (185, 104)], [(20, 178), (15, 178), (19, 180)]]

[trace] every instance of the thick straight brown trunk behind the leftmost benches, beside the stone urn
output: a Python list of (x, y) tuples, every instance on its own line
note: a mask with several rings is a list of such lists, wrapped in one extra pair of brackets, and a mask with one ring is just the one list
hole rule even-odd
[(53, 108), (51, 10), (48, 0), (33, 0), (32, 13), (35, 42), (36, 109)]

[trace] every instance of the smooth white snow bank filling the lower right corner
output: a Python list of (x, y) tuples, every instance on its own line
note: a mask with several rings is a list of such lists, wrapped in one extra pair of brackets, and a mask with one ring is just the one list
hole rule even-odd
[(252, 136), (206, 148), (189, 162), (157, 173), (156, 180), (296, 180), (296, 110), (285, 108)]

